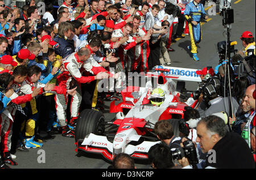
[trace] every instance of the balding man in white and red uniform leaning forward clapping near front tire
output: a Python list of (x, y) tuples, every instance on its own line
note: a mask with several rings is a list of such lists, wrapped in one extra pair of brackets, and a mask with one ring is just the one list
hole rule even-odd
[[(81, 89), (77, 85), (77, 83), (88, 83), (92, 82), (95, 79), (102, 79), (108, 78), (109, 74), (106, 72), (98, 72), (96, 76), (82, 76), (80, 73), (80, 68), (84, 66), (85, 61), (88, 60), (90, 57), (91, 52), (88, 48), (81, 48), (78, 52), (74, 52), (69, 55), (67, 58), (64, 59), (64, 72), (57, 77), (57, 82), (59, 86), (65, 87), (69, 89), (70, 87), (73, 89), (75, 86), (77, 87), (76, 95), (72, 97), (71, 103), (71, 125), (75, 125), (77, 116), (79, 115), (79, 107), (81, 104)], [(97, 69), (92, 68), (92, 69)], [(72, 81), (72, 79), (74, 79)], [(71, 83), (72, 81), (72, 83)], [(65, 128), (67, 129), (67, 122), (66, 122), (66, 113), (65, 110), (67, 109), (67, 97), (63, 94), (56, 95), (56, 112), (57, 117), (60, 122), (60, 127), (63, 129), (63, 136), (66, 137), (74, 137), (73, 131), (65, 134)]]

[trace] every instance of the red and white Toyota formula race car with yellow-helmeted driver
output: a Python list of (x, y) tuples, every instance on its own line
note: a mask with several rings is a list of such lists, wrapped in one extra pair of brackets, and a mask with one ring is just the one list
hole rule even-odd
[[(123, 102), (117, 105), (115, 101), (110, 103), (110, 112), (116, 114), (110, 122), (105, 122), (100, 111), (82, 111), (75, 132), (77, 153), (100, 153), (112, 161), (115, 154), (123, 152), (147, 160), (150, 147), (160, 143), (154, 133), (156, 122), (170, 119), (175, 133), (179, 132), (179, 123), (175, 119), (183, 118), (188, 104), (180, 101), (180, 93), (172, 80), (179, 79), (181, 75), (170, 74), (169, 71), (170, 67), (156, 66), (153, 73), (146, 74), (149, 81), (145, 87), (127, 86), (121, 91)], [(195, 107), (196, 103), (189, 106)]]

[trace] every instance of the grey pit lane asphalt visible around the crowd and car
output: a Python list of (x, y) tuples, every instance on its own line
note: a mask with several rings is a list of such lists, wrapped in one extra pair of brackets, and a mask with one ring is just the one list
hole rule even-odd
[[(255, 1), (242, 0), (235, 4), (232, 1), (232, 9), (234, 9), (234, 23), (230, 32), (230, 40), (237, 41), (235, 49), (242, 49), (240, 40), (243, 31), (251, 31), (255, 36)], [(205, 8), (208, 6), (206, 3)], [(217, 5), (218, 9), (218, 5)], [(218, 12), (218, 10), (217, 10)], [(207, 12), (208, 13), (208, 12)], [(199, 44), (198, 56), (200, 61), (192, 60), (187, 46), (190, 45), (189, 36), (178, 40), (171, 47), (175, 52), (170, 52), (172, 65), (180, 68), (202, 69), (205, 66), (218, 65), (217, 43), (225, 40), (224, 26), (220, 15), (209, 16), (212, 20), (203, 25), (203, 39)], [(189, 90), (196, 89), (195, 82), (186, 82), (186, 88)], [(108, 106), (109, 102), (105, 102)], [(105, 116), (109, 117), (108, 113)], [(13, 169), (105, 169), (110, 164), (103, 160), (101, 156), (94, 157), (92, 154), (88, 156), (77, 157), (75, 140), (55, 135), (55, 139), (48, 140), (43, 143), (40, 149), (30, 149), (27, 153), (16, 152), (18, 166), (11, 166)], [(45, 163), (39, 163), (42, 150), (45, 152)], [(150, 165), (136, 164), (138, 169), (150, 168)]]

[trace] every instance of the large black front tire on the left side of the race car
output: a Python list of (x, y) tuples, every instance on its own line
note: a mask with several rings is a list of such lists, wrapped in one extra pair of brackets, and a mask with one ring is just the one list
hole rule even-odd
[(85, 109), (79, 115), (76, 124), (75, 140), (84, 139), (89, 133), (102, 135), (105, 131), (105, 118), (101, 111)]

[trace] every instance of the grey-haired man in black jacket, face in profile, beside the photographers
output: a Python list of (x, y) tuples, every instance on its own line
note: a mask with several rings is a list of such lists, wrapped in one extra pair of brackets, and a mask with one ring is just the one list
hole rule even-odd
[[(205, 169), (244, 169), (255, 168), (253, 154), (240, 135), (228, 132), (224, 120), (218, 116), (202, 118), (197, 124), (197, 139), (203, 153), (208, 153), (201, 166)], [(183, 142), (186, 139), (183, 138)], [(180, 144), (183, 146), (182, 144)], [(191, 169), (189, 160), (183, 157), (179, 163), (184, 169)]]

